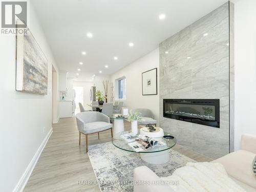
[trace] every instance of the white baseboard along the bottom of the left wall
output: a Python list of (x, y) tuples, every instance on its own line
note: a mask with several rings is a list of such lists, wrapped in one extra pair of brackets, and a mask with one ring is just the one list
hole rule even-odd
[(42, 150), (44, 150), (46, 143), (48, 142), (50, 136), (52, 135), (52, 128), (51, 130), (48, 132), (46, 138), (44, 139), (44, 141), (42, 141), (42, 143), (40, 144), (38, 150), (36, 151), (34, 157), (32, 158), (32, 160), (30, 161), (28, 167), (26, 168), (24, 174), (22, 175), (22, 177), (19, 179), (17, 185), (15, 186), (15, 188), (13, 189), (13, 192), (22, 192), (26, 186), (26, 184), (28, 183), (29, 177), (33, 172), (33, 169), (42, 153)]

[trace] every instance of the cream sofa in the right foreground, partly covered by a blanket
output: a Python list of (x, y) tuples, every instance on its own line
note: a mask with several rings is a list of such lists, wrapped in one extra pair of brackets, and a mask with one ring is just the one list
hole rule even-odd
[[(241, 150), (232, 152), (212, 162), (223, 164), (228, 176), (246, 191), (256, 191), (256, 176), (252, 172), (252, 160), (256, 156), (256, 136), (243, 135), (241, 143)], [(134, 185), (134, 192), (174, 191), (168, 185), (156, 184), (156, 181), (162, 181), (162, 179), (146, 166), (134, 169), (134, 180), (136, 183)], [(139, 183), (136, 181), (150, 181), (150, 183)]]

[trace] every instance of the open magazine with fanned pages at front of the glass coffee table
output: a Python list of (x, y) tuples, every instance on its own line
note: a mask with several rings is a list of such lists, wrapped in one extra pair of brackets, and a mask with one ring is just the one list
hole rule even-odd
[(165, 145), (164, 142), (157, 141), (154, 138), (145, 136), (145, 135), (139, 135), (137, 138), (135, 138), (134, 142), (128, 143), (136, 152), (141, 152), (146, 150), (147, 148), (154, 147), (154, 146), (162, 146)]

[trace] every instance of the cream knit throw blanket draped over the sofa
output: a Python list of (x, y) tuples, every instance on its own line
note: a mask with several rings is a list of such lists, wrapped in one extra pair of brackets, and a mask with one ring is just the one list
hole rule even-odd
[[(245, 191), (226, 173), (220, 163), (187, 163), (175, 170), (172, 176), (162, 178), (165, 181), (178, 181), (178, 185), (170, 184), (175, 191)], [(168, 182), (171, 183), (171, 182)]]

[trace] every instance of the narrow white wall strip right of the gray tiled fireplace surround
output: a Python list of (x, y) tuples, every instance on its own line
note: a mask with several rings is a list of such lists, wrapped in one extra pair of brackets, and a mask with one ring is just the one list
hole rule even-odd
[(234, 4), (234, 151), (241, 135), (256, 135), (256, 1)]

